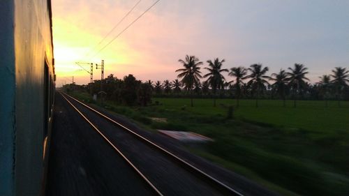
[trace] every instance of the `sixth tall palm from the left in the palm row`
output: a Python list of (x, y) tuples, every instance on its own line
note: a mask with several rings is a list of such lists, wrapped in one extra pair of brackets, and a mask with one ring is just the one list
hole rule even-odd
[(290, 81), (288, 84), (292, 87), (293, 91), (293, 107), (296, 107), (297, 95), (301, 94), (302, 89), (306, 86), (306, 82), (304, 80), (309, 80), (305, 77), (308, 70), (303, 64), (295, 63), (294, 68), (288, 68), (291, 72), (288, 72), (288, 80)]

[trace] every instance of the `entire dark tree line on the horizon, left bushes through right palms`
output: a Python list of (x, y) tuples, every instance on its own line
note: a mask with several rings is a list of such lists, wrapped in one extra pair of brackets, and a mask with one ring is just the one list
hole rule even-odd
[[(203, 75), (201, 68), (203, 62), (196, 56), (188, 56), (184, 60), (179, 59), (181, 68), (175, 70), (177, 79), (163, 82), (136, 80), (133, 75), (127, 75), (122, 80), (109, 75), (102, 81), (105, 99), (114, 100), (116, 103), (126, 105), (148, 105), (151, 96), (156, 97), (188, 97), (213, 98), (216, 106), (216, 98), (235, 98), (236, 107), (239, 100), (281, 99), (283, 106), (285, 100), (293, 100), (293, 106), (297, 106), (297, 100), (349, 100), (349, 70), (335, 67), (332, 74), (322, 75), (315, 84), (309, 83), (306, 77), (308, 68), (302, 63), (295, 63), (287, 70), (281, 69), (279, 73), (267, 75), (269, 68), (255, 63), (245, 68), (243, 66), (230, 69), (223, 68), (224, 59), (218, 58), (207, 61), (207, 74)], [(232, 80), (225, 79), (223, 73), (228, 73)], [(75, 88), (77, 86), (75, 85)], [(88, 85), (80, 86), (91, 94), (101, 93), (101, 80), (94, 80)]]

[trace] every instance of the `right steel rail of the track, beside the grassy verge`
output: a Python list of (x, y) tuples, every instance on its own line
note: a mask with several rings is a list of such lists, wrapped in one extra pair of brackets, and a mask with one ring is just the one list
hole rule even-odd
[(114, 121), (110, 117), (106, 116), (105, 114), (102, 114), (101, 112), (98, 112), (97, 110), (94, 110), (94, 108), (89, 107), (88, 105), (82, 103), (80, 100), (77, 100), (76, 98), (73, 98), (72, 96), (69, 96), (68, 94), (64, 93), (69, 98), (72, 98), (77, 103), (80, 103), (81, 105), (84, 105), (84, 107), (87, 107), (89, 110), (95, 112), (96, 114), (99, 114), (100, 116), (103, 116), (108, 121), (116, 124), (117, 126), (124, 128), (124, 130), (127, 130), (128, 133), (131, 133), (135, 137), (138, 137), (138, 139), (143, 140), (145, 143), (149, 144), (150, 146), (155, 147), (159, 151), (165, 153), (166, 155), (170, 156), (171, 158), (174, 158), (174, 160), (177, 160), (182, 165), (185, 165), (186, 167), (193, 169), (193, 171), (197, 172), (197, 174), (200, 174), (200, 176), (204, 176), (207, 180), (209, 180), (211, 183), (214, 183), (214, 185), (221, 190), (223, 190), (225, 193), (229, 193), (230, 195), (237, 195), (237, 196), (244, 196), (242, 193), (239, 193), (239, 191), (231, 188), (230, 186), (226, 185), (225, 183), (219, 181), (218, 179), (214, 178), (213, 176), (210, 176), (209, 174), (206, 174), (198, 167), (195, 167), (194, 165), (191, 165), (191, 163), (186, 162), (186, 160), (183, 160), (182, 158), (179, 158), (179, 156), (174, 155), (174, 153), (171, 153), (170, 151), (164, 149), (163, 147), (159, 146), (158, 144), (155, 144), (154, 142), (151, 142), (147, 138), (143, 137), (142, 135), (135, 133), (133, 130), (127, 128), (126, 126), (122, 125), (121, 123)]

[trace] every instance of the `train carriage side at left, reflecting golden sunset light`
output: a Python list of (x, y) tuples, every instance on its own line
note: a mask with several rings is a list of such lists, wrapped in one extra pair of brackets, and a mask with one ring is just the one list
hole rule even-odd
[(43, 195), (55, 89), (51, 1), (0, 1), (0, 49), (0, 195)]

